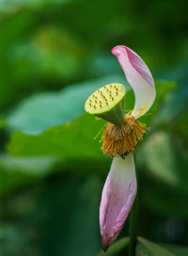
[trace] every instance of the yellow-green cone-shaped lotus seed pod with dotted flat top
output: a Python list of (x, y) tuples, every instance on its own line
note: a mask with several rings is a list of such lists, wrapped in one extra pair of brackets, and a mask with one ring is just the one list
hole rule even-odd
[(124, 97), (123, 85), (106, 85), (88, 97), (85, 104), (86, 112), (120, 126), (124, 121)]

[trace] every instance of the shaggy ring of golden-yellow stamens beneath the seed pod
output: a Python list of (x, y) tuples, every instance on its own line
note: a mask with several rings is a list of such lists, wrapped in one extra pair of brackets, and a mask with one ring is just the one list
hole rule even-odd
[(134, 152), (138, 142), (147, 134), (147, 125), (125, 115), (124, 122), (117, 126), (108, 122), (102, 133), (102, 152), (106, 156), (125, 157), (129, 152)]

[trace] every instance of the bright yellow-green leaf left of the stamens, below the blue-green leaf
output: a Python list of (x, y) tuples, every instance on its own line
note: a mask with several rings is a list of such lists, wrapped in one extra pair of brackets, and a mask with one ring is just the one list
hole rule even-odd
[(102, 157), (99, 140), (93, 140), (104, 124), (85, 114), (39, 135), (15, 132), (8, 144), (8, 152), (15, 155), (54, 155), (64, 158)]

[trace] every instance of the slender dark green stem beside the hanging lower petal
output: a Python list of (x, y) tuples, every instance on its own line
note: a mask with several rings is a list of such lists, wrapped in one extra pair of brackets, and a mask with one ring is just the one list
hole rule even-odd
[[(134, 163), (135, 163), (135, 175), (138, 184), (138, 173), (136, 169), (136, 161), (134, 155)], [(137, 185), (138, 186), (138, 185)], [(135, 248), (136, 248), (136, 236), (137, 236), (137, 218), (138, 218), (138, 188), (135, 200), (133, 202), (133, 208), (130, 214), (130, 244), (129, 244), (129, 256), (135, 256)]]

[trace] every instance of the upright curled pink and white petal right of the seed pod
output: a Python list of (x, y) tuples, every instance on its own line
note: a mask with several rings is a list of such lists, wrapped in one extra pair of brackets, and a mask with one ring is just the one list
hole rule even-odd
[(127, 46), (114, 47), (112, 54), (118, 57), (127, 81), (133, 88), (135, 104), (132, 115), (138, 119), (149, 110), (156, 97), (152, 75), (142, 58)]

